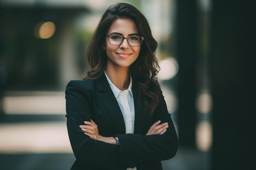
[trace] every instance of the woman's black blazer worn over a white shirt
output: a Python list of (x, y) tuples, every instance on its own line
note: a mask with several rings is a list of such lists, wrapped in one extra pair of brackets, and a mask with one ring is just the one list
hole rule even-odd
[[(104, 74), (95, 80), (74, 80), (67, 84), (67, 130), (76, 157), (71, 170), (126, 170), (135, 166), (137, 170), (162, 170), (161, 161), (175, 156), (178, 140), (164, 97), (150, 117), (138, 99), (134, 84), (132, 91), (135, 130), (134, 134), (125, 134), (123, 115)], [(121, 148), (85, 135), (79, 125), (90, 119), (98, 125), (100, 135), (117, 136)], [(167, 131), (163, 135), (145, 136), (157, 120), (168, 122)]]

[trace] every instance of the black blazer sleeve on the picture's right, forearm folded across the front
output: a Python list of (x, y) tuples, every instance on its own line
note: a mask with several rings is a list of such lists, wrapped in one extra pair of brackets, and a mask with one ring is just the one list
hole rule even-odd
[(121, 144), (120, 160), (123, 160), (124, 164), (135, 163), (136, 160), (162, 161), (175, 156), (178, 148), (178, 139), (171, 115), (167, 111), (164, 97), (162, 97), (155, 110), (153, 121), (157, 120), (161, 120), (162, 123), (168, 122), (169, 127), (163, 135), (117, 135)]

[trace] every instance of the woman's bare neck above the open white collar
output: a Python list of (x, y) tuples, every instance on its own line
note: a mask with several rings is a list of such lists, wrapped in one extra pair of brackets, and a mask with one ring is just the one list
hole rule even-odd
[(128, 89), (130, 84), (130, 75), (128, 74), (128, 68), (111, 69), (106, 68), (106, 74), (110, 81), (121, 91)]

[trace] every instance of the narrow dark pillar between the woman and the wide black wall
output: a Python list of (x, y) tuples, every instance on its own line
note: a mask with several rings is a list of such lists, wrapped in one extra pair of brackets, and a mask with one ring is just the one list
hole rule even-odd
[(198, 18), (194, 0), (177, 0), (178, 126), (180, 146), (195, 147), (195, 64)]

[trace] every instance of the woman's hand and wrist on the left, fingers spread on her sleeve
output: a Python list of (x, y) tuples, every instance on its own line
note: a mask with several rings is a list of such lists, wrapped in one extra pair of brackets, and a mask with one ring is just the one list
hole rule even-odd
[(85, 135), (89, 136), (91, 139), (103, 141), (109, 144), (116, 144), (114, 137), (103, 137), (99, 135), (99, 130), (97, 124), (91, 119), (91, 121), (84, 121), (85, 125), (80, 125), (79, 127), (84, 132)]

